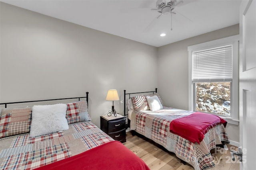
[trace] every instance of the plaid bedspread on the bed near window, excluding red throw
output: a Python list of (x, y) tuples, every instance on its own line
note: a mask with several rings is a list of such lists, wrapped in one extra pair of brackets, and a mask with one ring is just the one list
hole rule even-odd
[[(228, 135), (223, 124), (211, 128), (200, 143), (192, 143), (170, 132), (170, 122), (174, 119), (190, 115), (194, 112), (172, 107), (152, 111), (133, 112), (131, 127), (133, 130), (152, 139), (185, 162), (195, 170), (204, 170), (215, 166), (210, 150), (222, 141), (229, 143)], [(132, 123), (133, 122), (133, 123)]]

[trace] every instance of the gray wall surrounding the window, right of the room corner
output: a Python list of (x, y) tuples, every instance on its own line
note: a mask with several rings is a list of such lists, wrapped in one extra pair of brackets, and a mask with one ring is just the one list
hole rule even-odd
[[(165, 106), (188, 110), (188, 46), (239, 34), (239, 24), (158, 47), (158, 88)], [(226, 127), (239, 143), (239, 126)]]

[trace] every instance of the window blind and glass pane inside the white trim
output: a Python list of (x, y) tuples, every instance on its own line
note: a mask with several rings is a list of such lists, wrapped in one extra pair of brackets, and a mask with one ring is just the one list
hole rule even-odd
[(195, 110), (230, 116), (232, 45), (192, 52)]

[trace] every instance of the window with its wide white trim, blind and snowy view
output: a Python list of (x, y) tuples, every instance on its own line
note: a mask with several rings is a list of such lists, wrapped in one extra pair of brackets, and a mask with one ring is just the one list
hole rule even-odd
[(189, 109), (238, 124), (238, 35), (189, 51)]

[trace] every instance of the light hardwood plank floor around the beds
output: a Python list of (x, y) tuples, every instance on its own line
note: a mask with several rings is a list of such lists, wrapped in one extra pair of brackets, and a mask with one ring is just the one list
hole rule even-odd
[[(127, 132), (124, 145), (139, 156), (151, 170), (194, 170), (190, 164), (184, 165), (174, 153), (168, 152), (162, 146), (143, 136), (132, 136)], [(219, 149), (213, 153), (215, 167), (210, 170), (239, 170), (239, 161), (230, 160), (230, 147), (236, 150), (237, 147), (227, 145), (229, 150)]]

